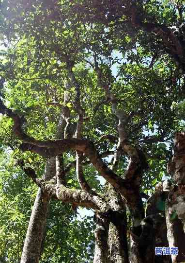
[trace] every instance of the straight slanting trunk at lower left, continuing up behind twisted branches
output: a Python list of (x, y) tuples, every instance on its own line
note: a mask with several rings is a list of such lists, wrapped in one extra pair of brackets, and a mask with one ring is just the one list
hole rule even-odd
[[(62, 113), (59, 119), (56, 138), (63, 138), (63, 122)], [(49, 181), (56, 175), (56, 158), (51, 157), (46, 161), (46, 168), (43, 175), (45, 181)], [(46, 218), (48, 212), (49, 200), (43, 196), (38, 189), (34, 206), (31, 212), (31, 218), (23, 246), (20, 263), (38, 263), (43, 250), (44, 233), (46, 232)]]

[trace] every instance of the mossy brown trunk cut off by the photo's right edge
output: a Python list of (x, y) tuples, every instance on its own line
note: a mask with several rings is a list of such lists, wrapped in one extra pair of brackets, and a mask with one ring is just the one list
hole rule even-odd
[(185, 133), (175, 134), (174, 155), (168, 165), (173, 179), (166, 201), (166, 220), (169, 246), (178, 247), (172, 255), (172, 263), (185, 262)]

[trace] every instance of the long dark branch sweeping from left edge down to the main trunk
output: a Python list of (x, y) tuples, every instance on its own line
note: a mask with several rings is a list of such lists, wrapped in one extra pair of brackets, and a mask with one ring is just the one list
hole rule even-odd
[(26, 135), (21, 130), (20, 117), (3, 105), (1, 101), (0, 112), (3, 114), (8, 113), (7, 115), (14, 121), (15, 134), (19, 137), (19, 139), (26, 142), (22, 143), (20, 146), (22, 151), (31, 151), (44, 157), (57, 156), (65, 151), (69, 151), (70, 149), (85, 154), (85, 156), (90, 159), (91, 163), (100, 173), (100, 175), (102, 175), (112, 186), (114, 186), (118, 191), (120, 191), (120, 193), (123, 194), (132, 213), (140, 218), (142, 209), (138, 207), (138, 196), (137, 203), (133, 205), (133, 196), (136, 196), (136, 189), (131, 186), (133, 182), (124, 180), (123, 178), (116, 175), (110, 168), (108, 168), (108, 166), (103, 162), (102, 158), (98, 154), (92, 141), (87, 139), (62, 139), (53, 141), (35, 140), (34, 138)]

